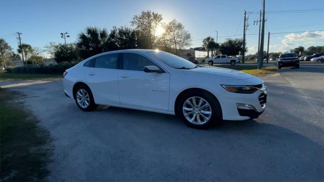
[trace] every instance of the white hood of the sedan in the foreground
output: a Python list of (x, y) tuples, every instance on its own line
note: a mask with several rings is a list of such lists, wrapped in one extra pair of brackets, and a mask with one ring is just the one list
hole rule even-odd
[(192, 72), (200, 72), (200, 73), (207, 73), (207, 74), (215, 74), (223, 76), (222, 79), (249, 79), (255, 76), (243, 73), (237, 70), (227, 69), (227, 68), (212, 68), (212, 67), (199, 67), (195, 69), (191, 69), (188, 71)]

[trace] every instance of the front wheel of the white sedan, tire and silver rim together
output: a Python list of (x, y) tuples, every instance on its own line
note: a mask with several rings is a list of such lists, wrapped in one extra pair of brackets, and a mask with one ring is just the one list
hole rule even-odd
[(211, 93), (203, 90), (185, 93), (179, 100), (177, 115), (194, 128), (206, 128), (221, 122), (221, 106)]

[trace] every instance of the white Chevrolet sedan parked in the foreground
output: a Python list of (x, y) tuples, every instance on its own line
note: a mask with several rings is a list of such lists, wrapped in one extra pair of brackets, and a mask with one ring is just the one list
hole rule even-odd
[(196, 128), (257, 118), (267, 98), (258, 77), (199, 67), (154, 50), (102, 53), (67, 69), (63, 76), (65, 95), (83, 111), (108, 105), (173, 114)]

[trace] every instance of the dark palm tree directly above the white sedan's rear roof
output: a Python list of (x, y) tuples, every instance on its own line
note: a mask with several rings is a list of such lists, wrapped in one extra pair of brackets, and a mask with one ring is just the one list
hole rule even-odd
[(82, 58), (89, 58), (93, 55), (103, 53), (107, 41), (107, 30), (97, 27), (87, 27), (85, 32), (78, 34), (76, 46), (80, 49)]

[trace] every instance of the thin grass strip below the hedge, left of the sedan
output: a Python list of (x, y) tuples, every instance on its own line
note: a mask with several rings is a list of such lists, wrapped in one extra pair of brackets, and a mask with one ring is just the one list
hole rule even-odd
[(62, 77), (62, 74), (0, 73), (0, 79), (57, 78), (57, 77)]

